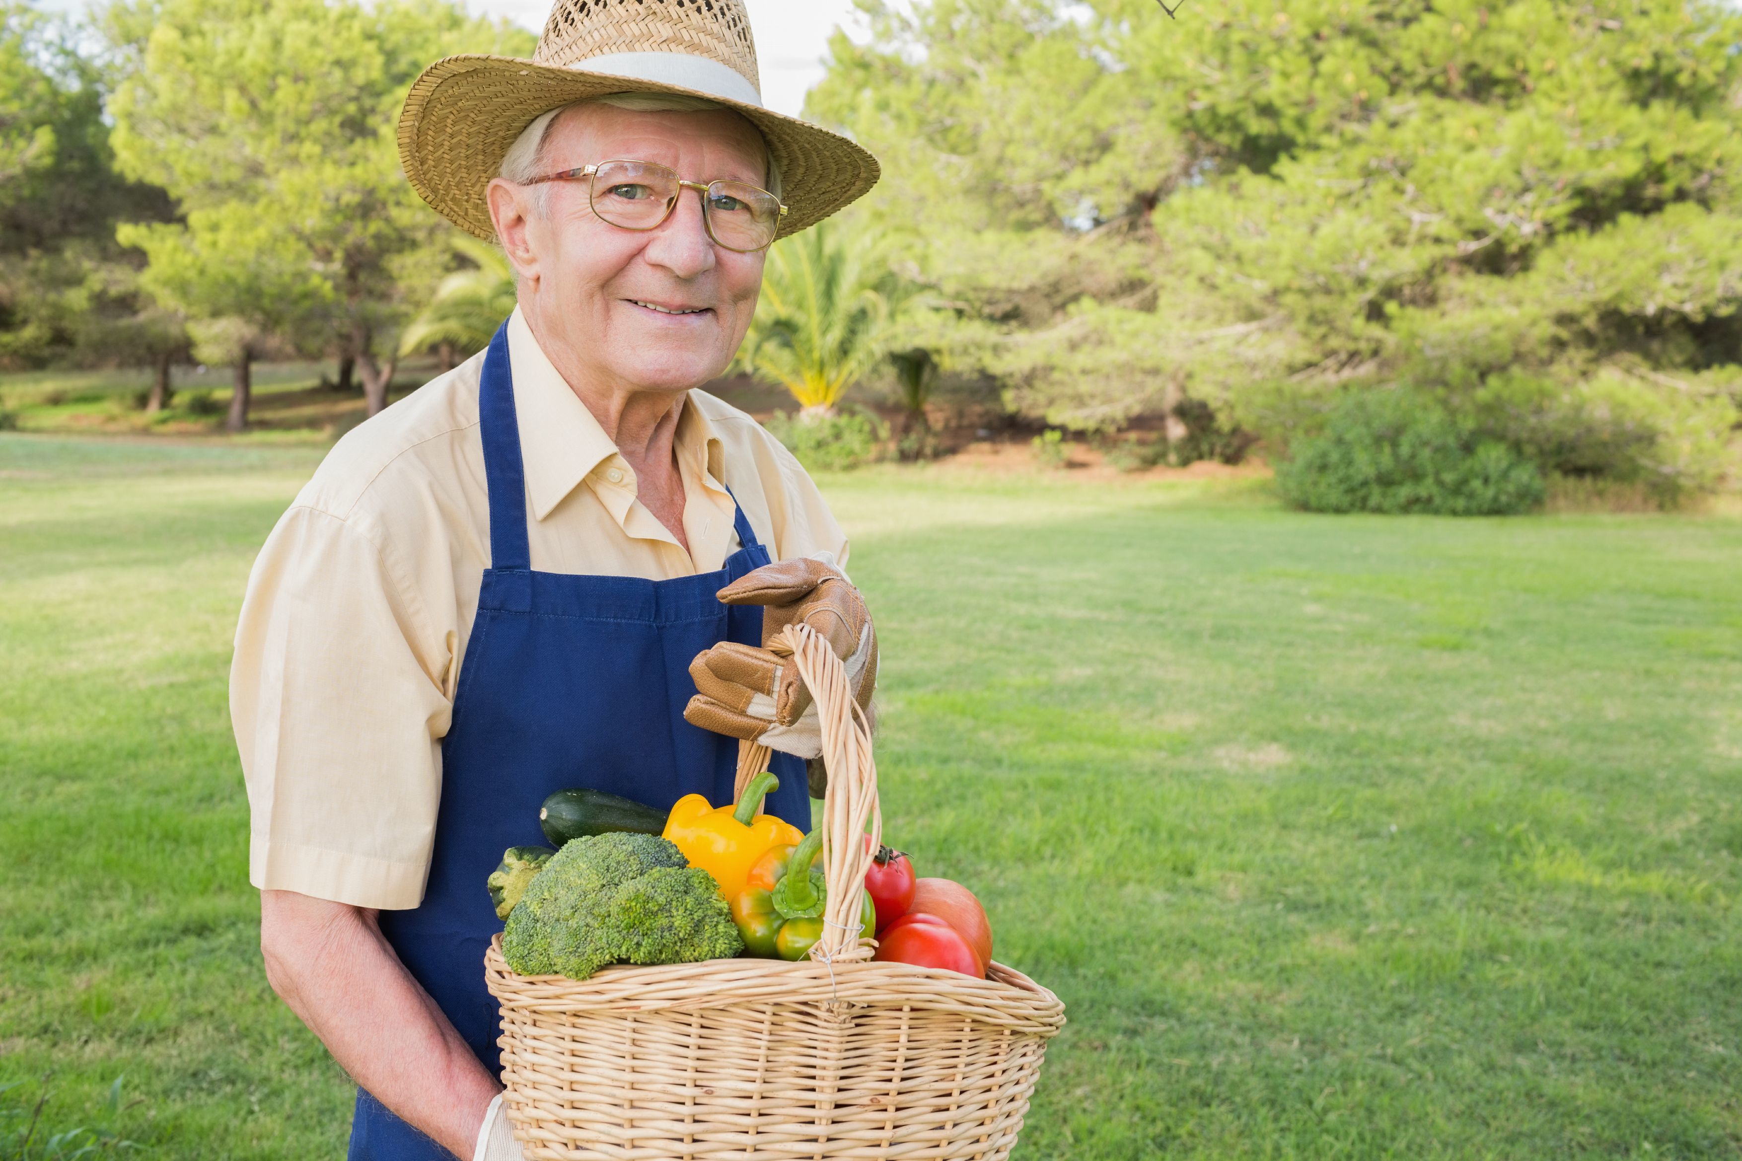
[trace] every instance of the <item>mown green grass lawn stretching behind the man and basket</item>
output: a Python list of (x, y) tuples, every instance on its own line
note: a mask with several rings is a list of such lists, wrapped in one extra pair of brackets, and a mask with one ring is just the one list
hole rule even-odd
[[(225, 711), (317, 453), (0, 438), (0, 1083), (150, 1156), (345, 1137)], [(1742, 521), (824, 488), (887, 835), (1068, 1004), (1019, 1158), (1742, 1156)]]

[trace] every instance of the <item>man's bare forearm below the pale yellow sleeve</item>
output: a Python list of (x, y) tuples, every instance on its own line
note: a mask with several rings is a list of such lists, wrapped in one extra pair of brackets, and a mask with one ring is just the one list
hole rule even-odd
[(267, 980), (369, 1095), (470, 1158), (502, 1090), (381, 936), (375, 912), (260, 893)]

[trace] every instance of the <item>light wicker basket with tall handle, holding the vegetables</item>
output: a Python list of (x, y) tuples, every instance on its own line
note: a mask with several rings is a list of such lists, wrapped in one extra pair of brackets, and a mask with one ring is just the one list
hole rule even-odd
[[(824, 936), (805, 962), (719, 959), (521, 976), (484, 957), (502, 1004), (509, 1119), (531, 1161), (974, 1158), (1010, 1152), (1059, 999), (1019, 971), (988, 980), (871, 962), (848, 934), (880, 840), (876, 767), (841, 662), (787, 629), (822, 711)], [(768, 755), (746, 748), (742, 781)], [(855, 889), (841, 891), (841, 884)]]

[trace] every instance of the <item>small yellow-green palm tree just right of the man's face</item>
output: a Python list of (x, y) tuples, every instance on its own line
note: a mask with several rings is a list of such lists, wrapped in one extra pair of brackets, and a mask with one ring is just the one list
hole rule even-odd
[(739, 366), (827, 415), (888, 350), (902, 296), (873, 248), (833, 221), (768, 251), (761, 302)]

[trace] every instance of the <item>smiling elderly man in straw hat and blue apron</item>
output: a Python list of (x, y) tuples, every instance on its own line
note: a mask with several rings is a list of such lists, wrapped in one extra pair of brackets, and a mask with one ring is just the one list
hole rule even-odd
[(766, 809), (807, 826), (815, 715), (761, 607), (824, 631), (869, 699), (847, 539), (697, 387), (742, 342), (768, 244), (876, 164), (760, 106), (740, 0), (563, 0), (531, 61), (434, 64), (399, 139), (418, 192), (500, 241), (519, 305), (279, 521), (232, 715), (267, 973), (361, 1086), (350, 1158), (500, 1161), (484, 879), (542, 840), (538, 804), (726, 802), (760, 739), (782, 751)]

